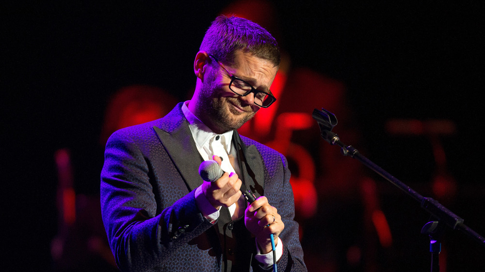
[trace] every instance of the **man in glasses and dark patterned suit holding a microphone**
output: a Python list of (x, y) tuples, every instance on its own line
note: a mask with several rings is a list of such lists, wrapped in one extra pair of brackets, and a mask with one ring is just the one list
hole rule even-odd
[[(103, 222), (126, 271), (306, 271), (288, 162), (236, 129), (274, 101), (275, 39), (219, 16), (194, 60), (194, 96), (162, 119), (115, 132), (101, 173)], [(214, 159), (226, 172), (203, 181)], [(242, 183), (257, 200), (244, 201)]]

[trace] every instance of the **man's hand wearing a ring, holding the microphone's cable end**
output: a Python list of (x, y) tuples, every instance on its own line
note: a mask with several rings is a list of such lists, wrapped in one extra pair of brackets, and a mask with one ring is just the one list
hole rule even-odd
[(270, 234), (274, 235), (276, 245), (278, 235), (285, 228), (281, 215), (278, 214), (275, 207), (268, 203), (265, 196), (260, 196), (246, 208), (244, 224), (256, 236), (261, 254), (267, 254), (272, 250)]

